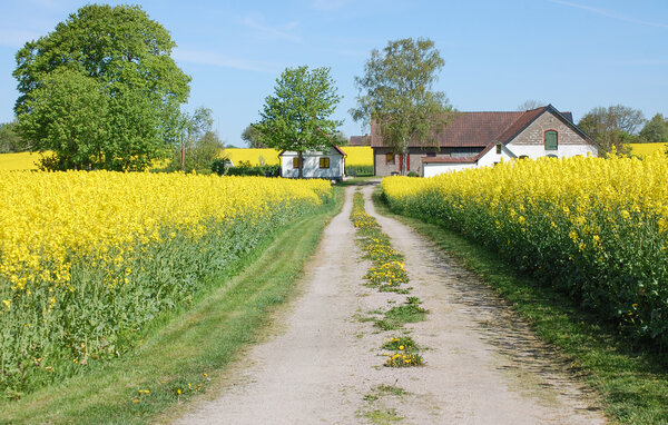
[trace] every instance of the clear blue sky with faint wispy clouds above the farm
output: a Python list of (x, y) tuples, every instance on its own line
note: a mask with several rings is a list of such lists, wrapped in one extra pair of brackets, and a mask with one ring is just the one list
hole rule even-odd
[[(46, 36), (87, 1), (0, 4), (0, 122), (13, 119), (11, 72), (24, 42)], [(110, 1), (110, 4), (131, 3)], [(286, 67), (330, 67), (347, 136), (365, 131), (348, 109), (373, 48), (430, 38), (445, 60), (436, 88), (459, 110), (515, 110), (528, 99), (570, 110), (621, 103), (668, 116), (666, 0), (137, 1), (167, 28), (173, 57), (193, 77), (185, 109), (214, 111), (220, 138), (243, 146)]]

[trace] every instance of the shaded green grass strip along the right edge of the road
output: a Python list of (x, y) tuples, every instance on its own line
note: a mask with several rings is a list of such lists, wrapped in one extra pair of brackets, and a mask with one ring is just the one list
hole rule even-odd
[(463, 236), (392, 214), (376, 191), (376, 210), (413, 227), (507, 299), (536, 334), (570, 358), (571, 369), (600, 393), (606, 412), (625, 424), (668, 424), (668, 357), (637, 350), (615, 326), (598, 320), (567, 295), (540, 286), (497, 254)]

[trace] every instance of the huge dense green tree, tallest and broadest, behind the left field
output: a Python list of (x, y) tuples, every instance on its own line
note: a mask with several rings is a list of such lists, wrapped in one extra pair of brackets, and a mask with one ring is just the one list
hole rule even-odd
[(171, 154), (190, 78), (139, 7), (82, 7), (17, 53), (19, 130), (56, 169), (141, 170)]

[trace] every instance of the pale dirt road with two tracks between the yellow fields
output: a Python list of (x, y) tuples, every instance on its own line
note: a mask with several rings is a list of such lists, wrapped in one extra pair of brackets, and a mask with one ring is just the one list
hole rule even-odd
[(423, 367), (383, 367), (371, 312), (406, 295), (363, 285), (350, 221), (352, 195), (325, 229), (299, 283), (302, 294), (275, 317), (273, 335), (229, 372), (215, 399), (195, 403), (179, 424), (598, 424), (597, 399), (559, 366), (559, 357), (475, 276), (394, 219), (376, 216), (405, 257), (410, 296), (425, 322), (404, 332), (420, 346)]

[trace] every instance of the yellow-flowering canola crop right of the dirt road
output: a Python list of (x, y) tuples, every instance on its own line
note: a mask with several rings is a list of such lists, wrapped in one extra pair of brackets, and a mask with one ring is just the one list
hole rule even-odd
[(668, 347), (668, 158), (542, 158), (390, 177), (391, 208), (498, 250), (631, 338)]

